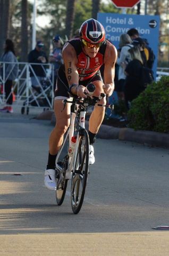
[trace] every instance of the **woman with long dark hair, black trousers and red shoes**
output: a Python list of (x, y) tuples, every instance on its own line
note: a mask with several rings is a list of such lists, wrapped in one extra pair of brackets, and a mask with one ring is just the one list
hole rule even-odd
[[(12, 83), (13, 80), (18, 76), (18, 61), (15, 56), (14, 44), (11, 39), (6, 39), (5, 41), (4, 53), (2, 54), (1, 61), (11, 63), (5, 63), (5, 65), (1, 67), (1, 76), (3, 78), (3, 81), (5, 81), (6, 104), (10, 106), (5, 106), (4, 108), (0, 109), (0, 111), (5, 113), (13, 113)], [(5, 68), (5, 70), (3, 70), (3, 67)], [(3, 77), (4, 72), (5, 77)]]

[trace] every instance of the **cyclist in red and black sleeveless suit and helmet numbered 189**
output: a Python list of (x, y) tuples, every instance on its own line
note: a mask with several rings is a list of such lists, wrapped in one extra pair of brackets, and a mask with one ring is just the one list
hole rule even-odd
[[(70, 124), (70, 104), (63, 110), (63, 99), (70, 97), (69, 92), (78, 97), (86, 98), (89, 93), (86, 86), (95, 84), (94, 96), (100, 93), (110, 96), (114, 90), (114, 74), (117, 51), (114, 45), (105, 39), (105, 30), (100, 22), (94, 19), (86, 20), (80, 28), (79, 38), (66, 42), (62, 51), (63, 65), (58, 70), (54, 111), (56, 126), (49, 138), (49, 155), (45, 171), (45, 186), (56, 189), (55, 160), (60, 149), (64, 133)], [(100, 67), (105, 65), (104, 83), (100, 75)], [(99, 102), (106, 103), (106, 98)], [(94, 147), (96, 134), (103, 122), (105, 108), (95, 106), (89, 119), (89, 164), (95, 162)]]

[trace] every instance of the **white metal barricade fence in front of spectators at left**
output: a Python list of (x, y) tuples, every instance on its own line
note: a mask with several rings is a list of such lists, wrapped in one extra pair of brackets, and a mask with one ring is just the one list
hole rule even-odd
[[(6, 73), (8, 65), (11, 65), (9, 73)], [(18, 65), (18, 76), (13, 80), (12, 94), (15, 98), (13, 106), (21, 107), (24, 114), (25, 108), (27, 114), (29, 108), (53, 109), (54, 101), (54, 69), (53, 65), (48, 63), (27, 63), (27, 62), (0, 62), (0, 107), (7, 105), (10, 95), (5, 98), (5, 82), (12, 74), (13, 68)], [(40, 65), (44, 70), (45, 76), (42, 79), (35, 74), (33, 66)], [(36, 86), (32, 85), (30, 71), (36, 81)], [(5, 75), (6, 74), (6, 75)], [(2, 105), (2, 106), (1, 106)]]

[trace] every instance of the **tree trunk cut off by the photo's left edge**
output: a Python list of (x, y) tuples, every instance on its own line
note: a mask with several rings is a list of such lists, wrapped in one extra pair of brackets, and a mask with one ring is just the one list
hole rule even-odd
[(9, 13), (10, 13), (10, 0), (0, 0), (0, 55), (3, 52), (3, 45), (5, 39), (9, 35)]

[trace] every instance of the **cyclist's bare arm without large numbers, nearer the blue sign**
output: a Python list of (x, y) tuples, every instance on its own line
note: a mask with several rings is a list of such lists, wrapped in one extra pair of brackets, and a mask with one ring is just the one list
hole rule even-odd
[(105, 69), (104, 69), (104, 92), (111, 96), (114, 90), (115, 63), (117, 60), (117, 50), (108, 42), (105, 52)]

